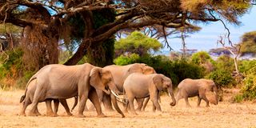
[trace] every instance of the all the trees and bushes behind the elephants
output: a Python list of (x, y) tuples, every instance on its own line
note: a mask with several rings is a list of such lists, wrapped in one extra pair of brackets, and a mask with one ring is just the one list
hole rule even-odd
[[(95, 66), (143, 62), (170, 77), (174, 86), (184, 78), (210, 78), (221, 89), (241, 88), (236, 101), (254, 99), (254, 61), (205, 51), (170, 58), (155, 55), (167, 38), (192, 34), (199, 23), (228, 22), (250, 10), (254, 1), (26, 1), (0, 2), (0, 86), (22, 88), (32, 74), (48, 64)], [(119, 38), (118, 40), (117, 37)], [(241, 54), (254, 54), (255, 32), (242, 36)], [(158, 42), (162, 40), (162, 42)], [(242, 77), (236, 77), (236, 76)], [(242, 78), (242, 79), (241, 79)]]

